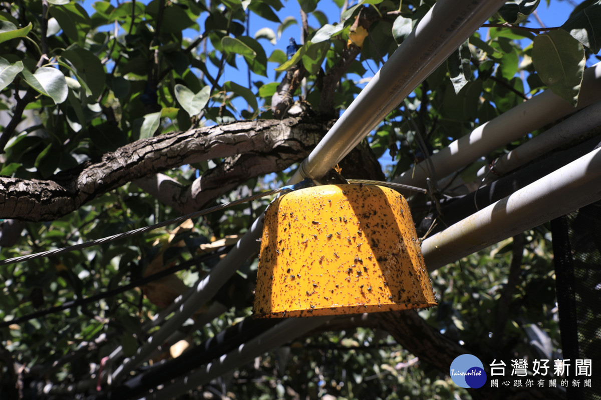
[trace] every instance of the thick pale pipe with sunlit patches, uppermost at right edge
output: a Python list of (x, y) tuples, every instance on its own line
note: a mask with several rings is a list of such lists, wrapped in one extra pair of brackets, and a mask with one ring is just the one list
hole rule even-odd
[[(584, 71), (576, 108), (551, 90), (534, 96), (480, 125), (472, 133), (455, 140), (447, 148), (432, 154), (430, 160), (434, 164), (436, 175), (441, 178), (450, 175), (512, 140), (519, 139), (535, 129), (582, 109), (599, 98), (601, 98), (601, 62)], [(427, 160), (422, 161), (415, 168), (395, 178), (393, 182), (424, 187), (428, 176), (426, 163)]]

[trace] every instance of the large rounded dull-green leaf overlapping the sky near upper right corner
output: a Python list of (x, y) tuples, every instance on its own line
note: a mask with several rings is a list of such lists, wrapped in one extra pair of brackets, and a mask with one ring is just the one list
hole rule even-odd
[(534, 38), (532, 63), (540, 79), (572, 106), (578, 104), (585, 62), (582, 43), (566, 31), (550, 31)]

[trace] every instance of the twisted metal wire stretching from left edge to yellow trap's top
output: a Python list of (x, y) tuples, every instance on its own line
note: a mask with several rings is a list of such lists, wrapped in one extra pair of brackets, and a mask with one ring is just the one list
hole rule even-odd
[(243, 199), (231, 201), (230, 203), (219, 204), (219, 206), (214, 206), (214, 207), (210, 207), (210, 208), (207, 208), (204, 210), (200, 210), (200, 211), (192, 212), (192, 213), (189, 213), (186, 215), (178, 216), (177, 218), (169, 219), (168, 221), (159, 222), (158, 224), (150, 225), (147, 227), (130, 230), (130, 231), (127, 231), (124, 233), (114, 234), (112, 236), (103, 237), (102, 239), (92, 240), (91, 242), (78, 243), (76, 245), (69, 246), (69, 247), (63, 247), (60, 249), (42, 251), (42, 252), (38, 252), (35, 254), (29, 254), (29, 255), (21, 255), (20, 257), (7, 258), (7, 260), (0, 260), (0, 266), (19, 263), (20, 261), (35, 260), (36, 258), (47, 257), (49, 255), (63, 254), (63, 253), (70, 252), (70, 251), (75, 251), (75, 250), (79, 250), (79, 249), (85, 249), (85, 248), (91, 247), (91, 246), (96, 246), (96, 245), (99, 245), (102, 243), (113, 242), (114, 240), (123, 239), (124, 237), (135, 236), (136, 234), (145, 233), (145, 232), (157, 229), (157, 228), (162, 228), (166, 225), (175, 224), (177, 222), (183, 222), (183, 221), (186, 221), (186, 219), (197, 218), (198, 216), (205, 215), (205, 214), (208, 214), (208, 213), (211, 213), (214, 211), (218, 211), (218, 210), (221, 210), (221, 209), (224, 209), (227, 207), (233, 207), (233, 206), (236, 206), (237, 204), (246, 203), (247, 201), (259, 199), (260, 197), (271, 196), (273, 194), (280, 193), (281, 191), (284, 191), (287, 188), (288, 187), (284, 187), (284, 188), (270, 190), (270, 191), (267, 191), (264, 193), (257, 193), (252, 196), (249, 196), (249, 197), (244, 197)]

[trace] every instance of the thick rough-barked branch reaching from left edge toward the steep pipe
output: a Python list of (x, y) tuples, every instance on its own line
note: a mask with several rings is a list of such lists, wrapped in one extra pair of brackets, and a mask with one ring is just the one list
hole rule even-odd
[[(221, 167), (233, 176), (236, 165), (245, 166), (246, 170), (238, 173), (240, 179), (279, 171), (302, 160), (328, 127), (328, 122), (299, 118), (233, 122), (138, 140), (46, 181), (0, 177), (0, 218), (51, 221), (127, 182), (215, 158), (242, 154), (230, 167)], [(224, 176), (219, 168), (212, 173)], [(218, 178), (206, 181), (213, 182), (199, 182), (200, 191), (213, 188), (203, 199), (206, 203), (225, 193), (224, 188), (213, 187)], [(185, 209), (188, 197), (183, 200), (180, 204)]]

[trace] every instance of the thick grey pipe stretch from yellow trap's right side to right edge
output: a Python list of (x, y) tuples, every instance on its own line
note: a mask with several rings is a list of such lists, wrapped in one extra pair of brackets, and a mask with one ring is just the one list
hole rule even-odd
[(601, 199), (601, 148), (496, 201), (422, 243), (438, 269), (517, 233)]

